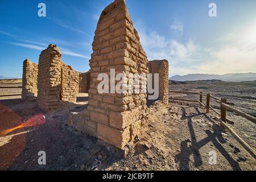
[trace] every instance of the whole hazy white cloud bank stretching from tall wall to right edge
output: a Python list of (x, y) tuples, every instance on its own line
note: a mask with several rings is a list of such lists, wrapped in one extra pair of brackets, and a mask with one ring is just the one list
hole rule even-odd
[[(202, 46), (195, 40), (180, 42), (138, 26), (148, 60), (167, 59), (171, 75), (189, 73), (256, 72), (256, 27), (247, 28), (215, 40), (216, 45)], [(175, 28), (173, 26), (173, 28)]]

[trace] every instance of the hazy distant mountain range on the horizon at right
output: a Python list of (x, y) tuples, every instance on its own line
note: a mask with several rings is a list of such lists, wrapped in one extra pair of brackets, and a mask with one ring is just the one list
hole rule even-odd
[(222, 81), (254, 81), (256, 73), (228, 73), (224, 75), (189, 74), (175, 75), (169, 78), (175, 81), (196, 81), (196, 80), (222, 80)]

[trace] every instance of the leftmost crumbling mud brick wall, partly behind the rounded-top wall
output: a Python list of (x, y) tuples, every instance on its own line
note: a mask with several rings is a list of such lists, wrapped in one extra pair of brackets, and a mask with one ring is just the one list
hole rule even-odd
[(38, 64), (23, 61), (22, 100), (33, 100), (38, 95)]

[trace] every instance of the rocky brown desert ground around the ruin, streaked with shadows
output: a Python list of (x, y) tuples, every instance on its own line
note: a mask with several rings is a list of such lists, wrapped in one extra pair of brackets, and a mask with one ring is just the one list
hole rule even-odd
[[(21, 84), (1, 84), (1, 86)], [(234, 107), (256, 115), (256, 87), (238, 85), (170, 85), (172, 90), (212, 93), (233, 102)], [(19, 94), (21, 89), (0, 89), (0, 95)], [(199, 96), (170, 93), (170, 97), (199, 100)], [(52, 113), (38, 109), (36, 101), (20, 96), (0, 97), (0, 169), (2, 170), (255, 170), (256, 161), (220, 126), (216, 114), (205, 113), (199, 104), (170, 100), (148, 117), (142, 134), (122, 151), (97, 138), (71, 129), (71, 111), (86, 108), (88, 97)], [(205, 103), (205, 100), (203, 101)], [(211, 100), (214, 108), (220, 109)], [(151, 106), (151, 107), (154, 107)], [(255, 125), (229, 112), (230, 125), (251, 147)], [(38, 164), (38, 152), (46, 151), (46, 165)], [(210, 152), (216, 164), (210, 164)]]

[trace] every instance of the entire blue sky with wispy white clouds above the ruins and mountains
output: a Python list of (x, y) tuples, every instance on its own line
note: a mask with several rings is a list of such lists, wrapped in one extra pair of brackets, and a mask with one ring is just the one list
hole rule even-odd
[[(38, 4), (46, 4), (46, 17)], [(0, 75), (21, 77), (23, 60), (38, 63), (41, 49), (56, 44), (62, 60), (89, 70), (101, 11), (113, 1), (0, 2)], [(217, 16), (209, 17), (209, 3)], [(167, 59), (170, 76), (256, 72), (255, 0), (126, 0), (148, 60)]]

